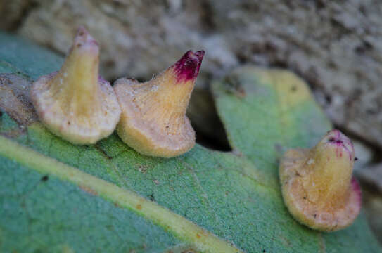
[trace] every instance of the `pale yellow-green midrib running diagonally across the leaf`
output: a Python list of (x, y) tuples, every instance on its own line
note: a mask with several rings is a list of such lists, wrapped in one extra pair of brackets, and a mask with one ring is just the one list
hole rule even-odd
[(75, 183), (77, 186), (89, 188), (104, 199), (120, 207), (130, 209), (153, 221), (153, 223), (163, 227), (166, 231), (170, 231), (177, 238), (191, 243), (200, 252), (241, 252), (231, 243), (217, 238), (216, 235), (205, 231), (183, 216), (171, 212), (169, 209), (155, 204), (155, 202), (146, 200), (130, 190), (125, 190), (115, 186), (113, 183), (80, 171), (75, 167), (70, 167), (51, 157), (46, 157), (4, 136), (0, 136), (0, 143), (1, 156), (14, 160), (42, 174), (50, 174), (59, 179)]

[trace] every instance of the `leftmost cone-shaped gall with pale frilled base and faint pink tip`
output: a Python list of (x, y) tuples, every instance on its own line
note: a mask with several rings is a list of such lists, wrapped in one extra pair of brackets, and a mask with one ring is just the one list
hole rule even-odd
[(61, 70), (32, 86), (40, 121), (70, 143), (96, 143), (110, 135), (120, 119), (117, 97), (109, 82), (98, 77), (98, 65), (98, 43), (79, 27)]

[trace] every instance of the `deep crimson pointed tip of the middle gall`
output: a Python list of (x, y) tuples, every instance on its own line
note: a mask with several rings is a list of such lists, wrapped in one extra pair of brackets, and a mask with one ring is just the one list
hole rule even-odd
[(177, 82), (187, 82), (198, 77), (200, 65), (202, 64), (205, 51), (187, 51), (177, 63), (174, 64), (174, 71), (177, 74)]

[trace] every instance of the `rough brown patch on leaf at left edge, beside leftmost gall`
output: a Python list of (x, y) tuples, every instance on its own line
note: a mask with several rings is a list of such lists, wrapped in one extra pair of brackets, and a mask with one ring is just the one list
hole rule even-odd
[(31, 86), (32, 82), (16, 74), (0, 74), (0, 110), (21, 125), (37, 121), (30, 100)]

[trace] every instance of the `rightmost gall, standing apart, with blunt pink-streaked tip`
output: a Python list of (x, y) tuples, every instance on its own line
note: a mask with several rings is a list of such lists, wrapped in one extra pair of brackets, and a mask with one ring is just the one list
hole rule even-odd
[(312, 149), (286, 151), (279, 166), (281, 191), (297, 221), (320, 231), (350, 226), (362, 204), (352, 178), (354, 158), (352, 142), (338, 130)]

